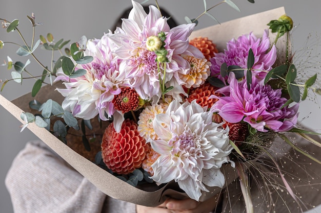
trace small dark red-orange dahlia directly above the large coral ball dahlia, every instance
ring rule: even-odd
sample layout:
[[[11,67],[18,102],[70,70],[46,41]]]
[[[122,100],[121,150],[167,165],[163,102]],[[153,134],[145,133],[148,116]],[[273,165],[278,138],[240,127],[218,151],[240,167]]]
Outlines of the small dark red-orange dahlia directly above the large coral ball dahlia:
[[[138,107],[139,96],[134,89],[123,87],[121,93],[114,97],[112,103],[116,110],[126,113]]]

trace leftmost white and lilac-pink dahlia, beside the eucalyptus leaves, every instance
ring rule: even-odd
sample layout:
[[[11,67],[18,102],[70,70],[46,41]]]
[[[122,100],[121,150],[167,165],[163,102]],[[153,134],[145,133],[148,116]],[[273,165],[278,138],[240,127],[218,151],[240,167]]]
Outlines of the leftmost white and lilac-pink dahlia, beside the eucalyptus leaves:
[[[87,70],[84,76],[70,79],[61,71],[56,81],[65,82],[66,89],[57,89],[65,97],[64,109],[85,120],[97,114],[103,121],[114,116],[118,121],[115,128],[119,131],[124,121],[123,113],[115,110],[112,101],[121,93],[122,87],[130,86],[130,79],[119,69],[121,59],[112,53],[116,46],[109,39],[110,34],[87,42],[85,55],[92,56],[93,61],[79,67]]]

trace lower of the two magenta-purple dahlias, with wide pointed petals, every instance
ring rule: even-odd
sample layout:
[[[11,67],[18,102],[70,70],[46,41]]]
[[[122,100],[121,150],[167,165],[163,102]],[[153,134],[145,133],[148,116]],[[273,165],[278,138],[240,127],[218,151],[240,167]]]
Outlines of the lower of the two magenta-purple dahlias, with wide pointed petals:
[[[212,96],[218,101],[211,108],[225,121],[238,123],[243,120],[261,132],[267,132],[267,129],[283,132],[296,125],[299,105],[282,108],[287,99],[282,97],[281,89],[272,89],[253,78],[248,90],[246,80],[237,82],[234,73],[229,75],[228,82],[229,92],[225,97]]]

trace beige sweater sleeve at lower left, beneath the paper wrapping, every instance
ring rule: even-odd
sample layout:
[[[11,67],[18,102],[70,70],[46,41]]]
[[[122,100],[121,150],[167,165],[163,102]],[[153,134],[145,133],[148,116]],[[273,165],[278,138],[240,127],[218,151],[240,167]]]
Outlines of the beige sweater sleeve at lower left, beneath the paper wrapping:
[[[42,141],[15,157],[6,186],[15,213],[135,213],[135,204],[106,196]]]

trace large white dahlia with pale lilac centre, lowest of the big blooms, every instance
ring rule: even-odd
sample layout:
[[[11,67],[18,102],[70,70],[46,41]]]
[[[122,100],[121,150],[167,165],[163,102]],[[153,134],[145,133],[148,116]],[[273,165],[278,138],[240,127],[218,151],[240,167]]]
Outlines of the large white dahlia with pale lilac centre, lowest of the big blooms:
[[[193,101],[174,100],[166,113],[157,114],[154,131],[160,139],[151,140],[160,157],[152,164],[159,183],[175,180],[186,194],[197,200],[206,186],[223,187],[220,167],[229,162],[232,151],[228,130],[212,122],[212,113]]]

